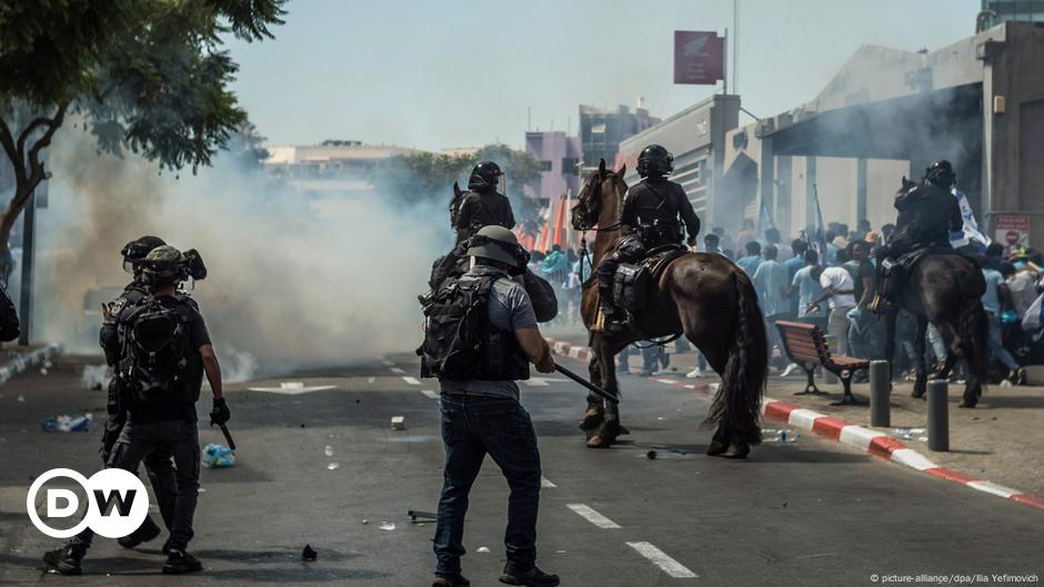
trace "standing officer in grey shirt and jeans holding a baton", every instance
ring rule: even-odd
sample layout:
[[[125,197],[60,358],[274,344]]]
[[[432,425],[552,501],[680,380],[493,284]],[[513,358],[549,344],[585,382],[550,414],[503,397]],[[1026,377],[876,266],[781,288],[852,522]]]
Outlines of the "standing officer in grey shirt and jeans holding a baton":
[[[436,558],[433,587],[469,585],[461,575],[464,554],[464,515],[468,494],[489,454],[500,466],[511,488],[508,528],[504,534],[508,564],[500,580],[509,585],[552,587],[555,575],[536,567],[536,513],[540,499],[540,452],[529,413],[519,403],[514,379],[529,378],[529,364],[541,373],[554,371],[551,351],[536,326],[525,290],[511,275],[525,269],[528,254],[515,235],[504,226],[478,231],[468,256],[473,267],[459,280],[451,279],[425,308],[428,332],[421,347],[422,375],[436,376],[442,389],[442,438],[445,469],[439,520],[435,528]],[[449,324],[461,316],[464,295],[481,296],[485,312],[469,321],[466,340],[478,345],[463,350],[448,346],[448,337],[433,328],[456,328]],[[438,314],[438,315],[433,315]],[[458,322],[461,318],[455,318]],[[466,318],[465,318],[466,320]],[[481,356],[463,362],[446,361],[459,351],[482,348]],[[451,363],[454,363],[451,365]]]

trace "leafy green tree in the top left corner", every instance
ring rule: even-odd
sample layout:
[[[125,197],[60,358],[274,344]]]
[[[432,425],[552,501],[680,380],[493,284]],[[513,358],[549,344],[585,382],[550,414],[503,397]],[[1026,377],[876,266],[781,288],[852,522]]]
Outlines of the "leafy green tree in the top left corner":
[[[0,252],[67,118],[99,150],[161,169],[209,165],[247,121],[229,90],[230,34],[271,38],[285,0],[6,0],[0,2],[0,146],[13,195]]]

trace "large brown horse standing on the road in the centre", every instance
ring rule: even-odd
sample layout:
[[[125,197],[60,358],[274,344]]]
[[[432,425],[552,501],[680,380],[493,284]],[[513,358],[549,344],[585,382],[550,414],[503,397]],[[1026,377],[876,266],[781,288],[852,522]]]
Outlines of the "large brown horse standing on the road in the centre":
[[[572,210],[573,227],[598,231],[595,267],[613,251],[620,235],[628,190],[623,175],[624,169],[606,170],[603,160],[585,180]],[[593,280],[584,284],[581,313],[590,332],[593,383],[619,394],[614,357],[620,351],[639,340],[683,333],[722,377],[705,421],[717,426],[707,454],[743,458],[750,445],[761,442],[757,421],[769,368],[765,321],[751,280],[731,261],[707,253],[687,253],[672,261],[650,287],[645,310],[632,316],[629,332],[592,331],[599,317]],[[606,406],[595,395],[588,396],[583,426],[592,448],[609,447],[625,432],[619,405]]]

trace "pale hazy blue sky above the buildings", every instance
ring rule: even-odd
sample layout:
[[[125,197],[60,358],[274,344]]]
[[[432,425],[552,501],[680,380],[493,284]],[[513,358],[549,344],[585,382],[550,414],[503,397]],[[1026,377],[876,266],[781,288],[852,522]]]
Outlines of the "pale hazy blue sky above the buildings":
[[[814,98],[862,44],[934,50],[968,37],[980,7],[739,3],[739,93],[759,117]],[[534,129],[575,132],[580,103],[639,97],[665,118],[721,91],[672,83],[673,31],[734,33],[733,0],[292,0],[288,10],[274,40],[230,45],[235,91],[270,144],[521,146],[528,107]]]

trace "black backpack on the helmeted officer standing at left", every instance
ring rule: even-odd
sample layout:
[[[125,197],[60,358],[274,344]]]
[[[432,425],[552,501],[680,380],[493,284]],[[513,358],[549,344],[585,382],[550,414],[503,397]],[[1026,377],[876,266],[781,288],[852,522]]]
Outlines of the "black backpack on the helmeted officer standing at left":
[[[192,307],[181,297],[147,297],[124,318],[121,371],[139,404],[185,404],[199,398],[191,384]]]

